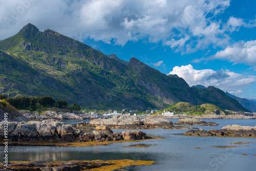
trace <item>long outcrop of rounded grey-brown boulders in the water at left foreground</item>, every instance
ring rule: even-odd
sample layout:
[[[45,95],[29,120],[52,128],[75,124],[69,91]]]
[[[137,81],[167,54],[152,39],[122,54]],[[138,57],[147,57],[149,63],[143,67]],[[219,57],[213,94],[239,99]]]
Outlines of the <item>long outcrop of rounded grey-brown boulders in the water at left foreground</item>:
[[[77,129],[57,120],[10,122],[9,141],[87,142],[150,139],[140,131],[113,133],[107,126],[98,126],[92,133]],[[0,141],[4,138],[4,122],[0,122]]]

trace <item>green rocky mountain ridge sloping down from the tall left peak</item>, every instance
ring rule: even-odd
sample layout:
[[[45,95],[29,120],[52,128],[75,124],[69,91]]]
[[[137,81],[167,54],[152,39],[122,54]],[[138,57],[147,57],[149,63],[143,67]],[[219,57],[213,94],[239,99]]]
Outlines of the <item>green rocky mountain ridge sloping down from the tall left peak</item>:
[[[220,89],[190,88],[177,75],[165,75],[134,57],[127,62],[107,56],[32,24],[0,41],[0,93],[50,95],[93,109],[154,109],[183,101],[248,111]]]

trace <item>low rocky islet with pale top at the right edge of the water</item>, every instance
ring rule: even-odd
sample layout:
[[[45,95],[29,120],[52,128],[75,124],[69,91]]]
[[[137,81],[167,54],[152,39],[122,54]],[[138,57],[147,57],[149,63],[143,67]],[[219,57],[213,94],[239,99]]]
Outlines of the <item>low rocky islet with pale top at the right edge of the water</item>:
[[[228,136],[228,137],[253,137],[256,138],[256,126],[227,125],[220,130],[189,130],[186,136]]]

